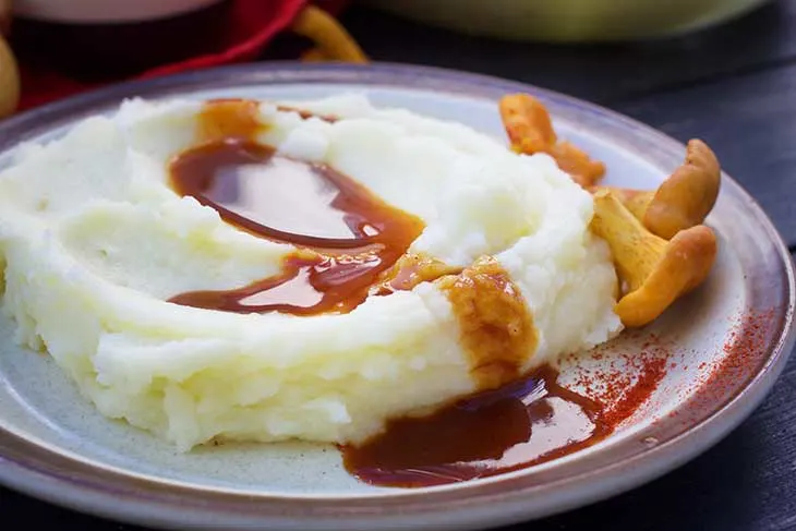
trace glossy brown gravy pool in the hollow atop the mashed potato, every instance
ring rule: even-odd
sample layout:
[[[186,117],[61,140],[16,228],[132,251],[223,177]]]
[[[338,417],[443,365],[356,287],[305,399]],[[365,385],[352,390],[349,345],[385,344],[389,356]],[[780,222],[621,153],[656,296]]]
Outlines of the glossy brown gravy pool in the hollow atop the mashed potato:
[[[171,302],[240,313],[350,311],[424,225],[326,165],[256,143],[263,129],[256,112],[254,101],[207,104],[202,142],[171,161],[171,185],[240,229],[301,250],[276,276],[234,290],[181,293]]]

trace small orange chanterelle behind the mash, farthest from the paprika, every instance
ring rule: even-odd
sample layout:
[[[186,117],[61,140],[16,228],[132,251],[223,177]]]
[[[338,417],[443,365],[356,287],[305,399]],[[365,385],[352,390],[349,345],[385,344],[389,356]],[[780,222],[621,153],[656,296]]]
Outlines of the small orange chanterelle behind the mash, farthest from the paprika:
[[[592,160],[569,142],[558,141],[547,109],[530,94],[504,96],[498,107],[515,152],[546,153],[583,188],[593,186],[605,174],[605,165]]]

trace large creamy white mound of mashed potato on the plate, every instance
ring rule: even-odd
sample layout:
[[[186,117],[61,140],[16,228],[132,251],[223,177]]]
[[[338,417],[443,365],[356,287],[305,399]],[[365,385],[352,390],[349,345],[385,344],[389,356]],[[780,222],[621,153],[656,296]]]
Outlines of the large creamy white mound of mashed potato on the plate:
[[[539,341],[524,369],[620,329],[592,201],[547,156],[520,156],[461,124],[359,95],[304,102],[329,123],[263,102],[260,141],[324,161],[424,220],[410,252],[467,266],[494,255]],[[294,248],[257,239],[168,186],[202,102],[125,101],[0,173],[2,307],[99,411],[182,450],[219,439],[357,443],[394,415],[477,389],[436,285],[347,314],[234,314],[166,302],[280,270]],[[2,288],[2,285],[0,285]]]

